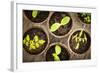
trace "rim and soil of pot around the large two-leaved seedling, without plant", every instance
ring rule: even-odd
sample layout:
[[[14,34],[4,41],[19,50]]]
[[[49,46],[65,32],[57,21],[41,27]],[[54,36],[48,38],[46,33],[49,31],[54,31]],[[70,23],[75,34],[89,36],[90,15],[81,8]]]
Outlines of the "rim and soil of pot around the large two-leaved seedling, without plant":
[[[70,21],[68,23],[68,25],[64,25],[61,26],[58,30],[56,30],[55,32],[51,32],[50,31],[50,27],[53,23],[60,23],[61,19],[65,16],[69,16],[70,17]],[[67,13],[67,12],[54,12],[51,17],[49,18],[49,22],[48,22],[48,28],[50,33],[58,38],[63,38],[65,37],[68,32],[71,30],[72,28],[72,18],[71,16]]]

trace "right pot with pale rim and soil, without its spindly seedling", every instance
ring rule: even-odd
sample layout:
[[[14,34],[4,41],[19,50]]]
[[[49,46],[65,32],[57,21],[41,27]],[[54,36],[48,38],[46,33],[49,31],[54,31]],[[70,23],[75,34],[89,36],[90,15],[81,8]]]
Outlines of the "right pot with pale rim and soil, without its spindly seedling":
[[[78,34],[78,36],[79,36],[79,33],[80,33],[81,30],[83,30],[83,34],[82,34],[81,38],[84,38],[84,34],[86,34],[87,43],[81,42],[81,43],[80,43],[80,47],[77,48],[77,49],[75,49],[77,43],[76,43],[76,41],[75,41],[74,39],[72,39],[72,38],[73,38],[73,36],[75,36],[76,34]],[[68,46],[69,46],[69,48],[70,48],[73,52],[75,52],[75,53],[77,53],[77,54],[83,54],[83,53],[85,53],[85,52],[90,48],[90,45],[91,45],[91,37],[90,37],[90,34],[89,34],[86,30],[84,30],[84,29],[78,29],[78,30],[74,31],[74,32],[69,36],[69,39],[68,39]]]

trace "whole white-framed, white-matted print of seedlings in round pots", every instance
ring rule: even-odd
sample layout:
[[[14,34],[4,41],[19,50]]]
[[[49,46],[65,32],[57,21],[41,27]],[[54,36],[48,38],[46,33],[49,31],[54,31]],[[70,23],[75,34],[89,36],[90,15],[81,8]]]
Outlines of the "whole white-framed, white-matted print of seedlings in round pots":
[[[12,2],[11,69],[96,65],[96,8]]]

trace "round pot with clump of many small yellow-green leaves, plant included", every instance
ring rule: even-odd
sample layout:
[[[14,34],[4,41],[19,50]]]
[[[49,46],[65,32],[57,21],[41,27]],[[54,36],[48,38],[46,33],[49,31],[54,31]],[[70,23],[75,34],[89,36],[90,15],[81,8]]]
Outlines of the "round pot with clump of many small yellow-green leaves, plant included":
[[[41,28],[31,28],[23,35],[23,48],[29,54],[40,54],[48,45],[48,35]]]

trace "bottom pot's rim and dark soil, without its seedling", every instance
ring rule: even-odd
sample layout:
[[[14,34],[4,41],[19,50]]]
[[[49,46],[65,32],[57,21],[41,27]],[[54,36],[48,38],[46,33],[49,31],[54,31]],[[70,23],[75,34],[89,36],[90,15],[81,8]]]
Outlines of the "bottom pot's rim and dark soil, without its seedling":
[[[59,45],[61,47],[61,53],[58,55],[60,58],[60,61],[69,60],[70,54],[67,51],[67,48],[64,44],[61,43],[53,43],[49,46],[49,48],[46,51],[46,61],[54,61],[54,57],[52,54],[55,52],[55,45]]]

